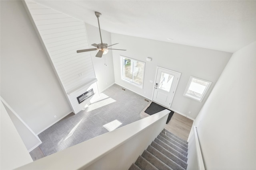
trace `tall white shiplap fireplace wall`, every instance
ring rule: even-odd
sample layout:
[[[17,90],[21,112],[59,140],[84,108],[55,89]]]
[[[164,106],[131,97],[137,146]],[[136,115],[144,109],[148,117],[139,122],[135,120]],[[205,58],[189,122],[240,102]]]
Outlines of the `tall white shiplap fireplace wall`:
[[[33,1],[25,1],[40,37],[46,47],[74,113],[78,113],[88,101],[78,104],[78,93],[84,93],[92,85],[98,96],[98,86],[90,53],[76,53],[90,48],[83,21],[77,20]],[[80,92],[75,92],[79,89]]]

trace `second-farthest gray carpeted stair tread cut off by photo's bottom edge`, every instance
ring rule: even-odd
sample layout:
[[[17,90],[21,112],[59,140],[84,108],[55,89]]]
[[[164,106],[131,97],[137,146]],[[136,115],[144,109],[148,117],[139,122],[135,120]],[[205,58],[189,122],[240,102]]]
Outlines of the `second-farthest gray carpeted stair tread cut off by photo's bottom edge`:
[[[164,162],[159,160],[156,156],[154,156],[152,153],[148,152],[148,150],[144,150],[144,152],[141,155],[143,158],[148,160],[152,165],[154,165],[156,168],[160,170],[172,170],[169,166],[167,166]]]

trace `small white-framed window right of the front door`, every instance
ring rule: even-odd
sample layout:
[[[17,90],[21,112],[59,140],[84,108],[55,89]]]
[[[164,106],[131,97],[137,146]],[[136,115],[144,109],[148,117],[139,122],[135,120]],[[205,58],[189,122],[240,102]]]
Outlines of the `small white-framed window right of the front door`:
[[[184,96],[202,102],[212,82],[190,76]]]

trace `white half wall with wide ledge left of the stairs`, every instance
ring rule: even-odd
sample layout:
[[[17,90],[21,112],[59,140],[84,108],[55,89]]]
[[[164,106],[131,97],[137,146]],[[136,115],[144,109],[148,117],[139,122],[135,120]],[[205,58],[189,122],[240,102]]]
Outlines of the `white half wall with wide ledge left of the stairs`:
[[[164,129],[169,113],[165,109],[17,169],[128,169]]]

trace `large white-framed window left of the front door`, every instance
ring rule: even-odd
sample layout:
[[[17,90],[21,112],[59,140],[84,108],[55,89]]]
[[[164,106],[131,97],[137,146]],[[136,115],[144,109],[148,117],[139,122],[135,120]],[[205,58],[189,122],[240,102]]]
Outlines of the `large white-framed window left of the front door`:
[[[144,81],[145,63],[142,61],[130,59],[128,57],[120,57],[122,79],[142,88]]]

